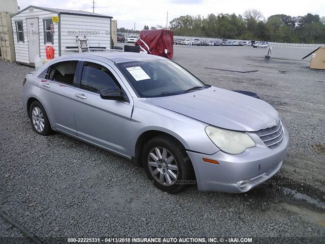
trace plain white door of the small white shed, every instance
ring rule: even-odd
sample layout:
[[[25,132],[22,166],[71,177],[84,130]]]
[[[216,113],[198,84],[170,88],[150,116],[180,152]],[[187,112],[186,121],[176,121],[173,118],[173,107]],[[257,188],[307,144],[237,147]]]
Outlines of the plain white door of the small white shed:
[[[35,63],[35,57],[40,55],[39,19],[26,19],[29,63]]]

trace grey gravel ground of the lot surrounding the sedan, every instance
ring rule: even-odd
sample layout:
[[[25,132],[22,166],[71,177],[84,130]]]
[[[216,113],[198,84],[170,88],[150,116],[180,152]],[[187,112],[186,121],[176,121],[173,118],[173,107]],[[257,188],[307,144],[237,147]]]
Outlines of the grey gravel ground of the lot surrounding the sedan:
[[[174,46],[204,82],[255,92],[290,135],[281,171],[247,194],[157,190],[142,168],[61,134],[31,130],[21,104],[30,67],[0,61],[0,210],[37,236],[325,236],[325,72],[309,49]],[[205,69],[213,68],[213,69]],[[233,70],[232,71],[221,71]],[[240,73],[238,71],[258,70]],[[296,190],[309,201],[296,199]],[[305,195],[306,194],[306,195]],[[307,199],[308,200],[308,199]],[[0,236],[21,236],[0,218]],[[325,241],[317,239],[317,241]]]

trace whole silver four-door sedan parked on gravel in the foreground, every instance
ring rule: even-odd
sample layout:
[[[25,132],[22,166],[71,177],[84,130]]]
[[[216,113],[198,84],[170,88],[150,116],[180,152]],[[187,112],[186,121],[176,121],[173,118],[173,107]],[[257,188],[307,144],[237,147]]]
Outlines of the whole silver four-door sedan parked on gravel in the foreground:
[[[160,190],[241,193],[281,168],[288,133],[268,103],[139,53],[54,58],[23,82],[32,129],[66,134],[143,166]]]

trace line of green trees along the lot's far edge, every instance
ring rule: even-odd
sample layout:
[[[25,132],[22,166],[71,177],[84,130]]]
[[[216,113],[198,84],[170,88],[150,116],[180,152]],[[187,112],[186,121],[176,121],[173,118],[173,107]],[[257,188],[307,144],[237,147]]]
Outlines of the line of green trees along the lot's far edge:
[[[153,27],[155,28],[155,27]],[[287,43],[325,43],[325,17],[315,14],[291,17],[272,15],[265,19],[258,10],[243,15],[185,15],[170,21],[175,36],[259,40]],[[145,26],[145,29],[149,29]]]

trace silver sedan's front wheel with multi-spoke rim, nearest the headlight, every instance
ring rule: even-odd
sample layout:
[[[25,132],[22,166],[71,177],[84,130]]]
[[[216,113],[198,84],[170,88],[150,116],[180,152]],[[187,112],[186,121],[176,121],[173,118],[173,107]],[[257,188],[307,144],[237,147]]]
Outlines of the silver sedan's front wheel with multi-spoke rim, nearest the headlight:
[[[143,167],[155,187],[164,192],[178,193],[195,183],[184,147],[169,136],[157,136],[148,141],[143,150]]]

